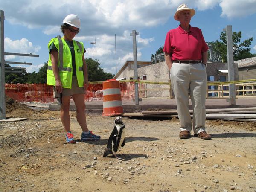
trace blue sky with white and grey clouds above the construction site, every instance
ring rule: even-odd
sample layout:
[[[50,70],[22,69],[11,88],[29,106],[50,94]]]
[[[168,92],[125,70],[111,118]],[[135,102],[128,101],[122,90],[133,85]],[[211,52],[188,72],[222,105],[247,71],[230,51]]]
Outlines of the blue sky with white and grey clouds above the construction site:
[[[178,26],[174,20],[181,3],[196,10],[191,25],[199,27],[205,41],[216,41],[223,28],[232,25],[242,32],[242,41],[253,37],[251,52],[256,53],[256,0],[0,0],[5,14],[5,52],[32,53],[39,58],[7,56],[6,61],[32,62],[28,72],[38,71],[48,60],[47,44],[59,30],[64,17],[76,14],[86,58],[92,58],[90,39],[96,38],[94,58],[109,73],[116,73],[127,60],[133,60],[130,33],[136,29],[138,60],[150,61],[151,54],[164,44],[166,33]]]

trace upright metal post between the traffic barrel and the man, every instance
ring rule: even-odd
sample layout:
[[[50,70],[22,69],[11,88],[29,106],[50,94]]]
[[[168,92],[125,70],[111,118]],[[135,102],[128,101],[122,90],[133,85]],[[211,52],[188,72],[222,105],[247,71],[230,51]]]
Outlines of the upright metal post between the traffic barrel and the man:
[[[134,49],[134,80],[138,81],[136,35],[139,35],[139,33],[137,33],[136,30],[132,30],[132,33],[130,33],[130,36],[132,36],[133,49]],[[134,89],[135,89],[135,105],[139,105],[139,86],[137,83],[134,83]]]

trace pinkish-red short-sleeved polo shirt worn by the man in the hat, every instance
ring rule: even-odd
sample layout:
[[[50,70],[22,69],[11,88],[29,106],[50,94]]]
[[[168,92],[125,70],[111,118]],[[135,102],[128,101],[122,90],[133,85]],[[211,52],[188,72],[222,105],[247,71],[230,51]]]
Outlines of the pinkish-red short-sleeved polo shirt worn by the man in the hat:
[[[208,49],[201,29],[190,26],[186,32],[179,25],[167,33],[163,52],[171,54],[172,60],[201,60]]]

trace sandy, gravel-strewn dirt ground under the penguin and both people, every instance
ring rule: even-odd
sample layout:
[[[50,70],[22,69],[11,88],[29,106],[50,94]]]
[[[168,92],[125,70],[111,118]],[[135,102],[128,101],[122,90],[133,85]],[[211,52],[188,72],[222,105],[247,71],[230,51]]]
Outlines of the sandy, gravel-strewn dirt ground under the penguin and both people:
[[[10,104],[9,104],[10,103]],[[33,192],[256,192],[256,124],[207,121],[212,140],[178,138],[177,119],[123,118],[127,136],[118,160],[102,157],[114,117],[87,113],[99,141],[66,144],[59,111],[32,110],[9,101],[0,123],[0,191]]]

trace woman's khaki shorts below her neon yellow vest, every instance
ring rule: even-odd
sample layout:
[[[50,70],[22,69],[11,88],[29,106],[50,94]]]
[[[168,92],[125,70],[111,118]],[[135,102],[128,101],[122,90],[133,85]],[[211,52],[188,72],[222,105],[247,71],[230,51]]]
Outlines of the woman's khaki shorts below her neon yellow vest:
[[[84,93],[85,93],[84,87],[78,86],[76,76],[72,76],[71,89],[62,88],[62,93],[58,93],[57,90],[55,89],[55,86],[53,86],[53,97],[57,99],[59,104],[62,104],[61,98],[63,96],[72,96],[72,95],[84,94]]]

